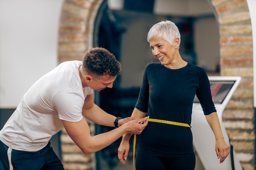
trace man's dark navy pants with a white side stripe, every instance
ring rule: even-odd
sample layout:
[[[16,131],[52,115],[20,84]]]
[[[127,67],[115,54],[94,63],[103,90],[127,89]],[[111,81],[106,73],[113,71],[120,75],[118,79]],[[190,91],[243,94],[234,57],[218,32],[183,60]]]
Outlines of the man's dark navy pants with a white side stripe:
[[[64,170],[50,142],[37,152],[14,150],[0,141],[0,162],[4,170]]]

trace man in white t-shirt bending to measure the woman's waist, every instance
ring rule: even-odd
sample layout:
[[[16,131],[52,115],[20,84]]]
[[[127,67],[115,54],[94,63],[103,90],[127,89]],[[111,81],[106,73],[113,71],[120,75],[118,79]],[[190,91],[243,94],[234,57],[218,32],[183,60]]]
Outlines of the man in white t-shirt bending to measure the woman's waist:
[[[38,79],[0,131],[4,170],[63,170],[49,143],[63,127],[84,154],[105,148],[126,132],[140,134],[146,117],[120,119],[94,104],[93,90],[112,88],[120,74],[115,56],[97,47],[88,50],[83,61],[63,62]],[[91,136],[84,117],[116,128]]]

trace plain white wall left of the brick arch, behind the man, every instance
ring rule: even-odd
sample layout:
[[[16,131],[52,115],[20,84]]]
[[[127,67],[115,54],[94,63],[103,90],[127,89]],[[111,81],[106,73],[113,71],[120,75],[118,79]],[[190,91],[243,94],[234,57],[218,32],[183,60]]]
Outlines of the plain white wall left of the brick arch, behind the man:
[[[0,0],[0,108],[57,65],[63,0]]]

